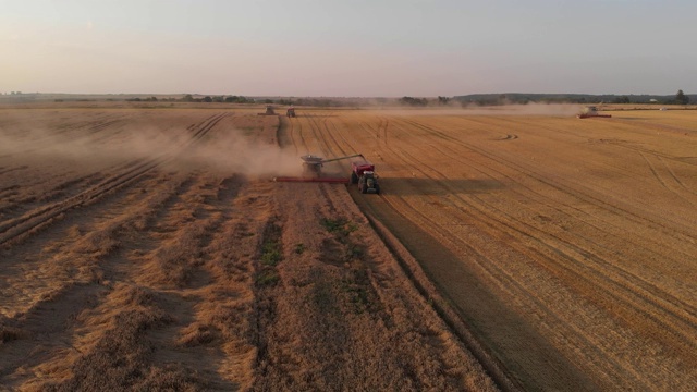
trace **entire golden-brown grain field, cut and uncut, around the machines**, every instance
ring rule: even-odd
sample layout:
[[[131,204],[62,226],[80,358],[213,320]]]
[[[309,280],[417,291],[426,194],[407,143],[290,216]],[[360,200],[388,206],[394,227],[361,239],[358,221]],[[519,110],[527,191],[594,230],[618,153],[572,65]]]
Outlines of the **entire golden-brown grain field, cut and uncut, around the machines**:
[[[256,111],[0,110],[0,384],[697,387],[694,111]]]

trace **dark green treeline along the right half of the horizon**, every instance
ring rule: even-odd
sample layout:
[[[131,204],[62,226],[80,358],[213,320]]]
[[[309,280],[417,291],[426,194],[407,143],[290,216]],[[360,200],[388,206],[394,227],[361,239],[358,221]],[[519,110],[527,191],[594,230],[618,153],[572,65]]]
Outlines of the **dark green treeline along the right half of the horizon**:
[[[470,94],[453,97],[463,105],[509,105],[509,103],[660,103],[687,105],[697,102],[697,95],[686,95],[682,90],[676,95],[590,95],[590,94]]]

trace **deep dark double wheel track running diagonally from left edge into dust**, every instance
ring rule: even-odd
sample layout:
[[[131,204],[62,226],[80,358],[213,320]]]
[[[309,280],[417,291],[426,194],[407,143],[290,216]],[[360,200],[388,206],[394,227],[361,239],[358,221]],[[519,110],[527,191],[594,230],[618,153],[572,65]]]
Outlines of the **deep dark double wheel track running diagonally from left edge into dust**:
[[[227,115],[228,113],[213,114],[201,123],[189,125],[188,130],[192,133],[192,136],[180,146],[179,151],[182,151],[200,140]],[[162,163],[171,160],[176,152],[178,151],[164,151],[151,159],[137,159],[133,161],[134,163],[131,168],[105,179],[99,184],[96,184],[77,195],[49,206],[41,206],[10,221],[1,222],[0,246],[7,245],[24,234],[28,234],[34,230],[49,224],[52,219],[63,212],[94,203],[111,192],[115,192],[119,188],[134,183],[155,168],[158,168]]]

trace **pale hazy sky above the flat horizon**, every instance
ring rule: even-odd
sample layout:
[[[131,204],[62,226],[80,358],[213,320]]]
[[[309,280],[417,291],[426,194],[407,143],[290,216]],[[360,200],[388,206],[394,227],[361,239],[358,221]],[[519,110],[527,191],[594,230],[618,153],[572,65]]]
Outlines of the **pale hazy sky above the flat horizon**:
[[[0,0],[0,91],[697,94],[696,0]]]

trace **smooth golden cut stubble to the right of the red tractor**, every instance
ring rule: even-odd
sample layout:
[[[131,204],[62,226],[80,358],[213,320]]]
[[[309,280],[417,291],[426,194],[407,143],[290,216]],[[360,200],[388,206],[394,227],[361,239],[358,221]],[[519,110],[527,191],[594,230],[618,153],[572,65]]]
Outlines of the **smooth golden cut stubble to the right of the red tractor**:
[[[374,160],[382,194],[354,200],[523,388],[697,389],[697,112],[537,111],[310,114],[291,134]]]

